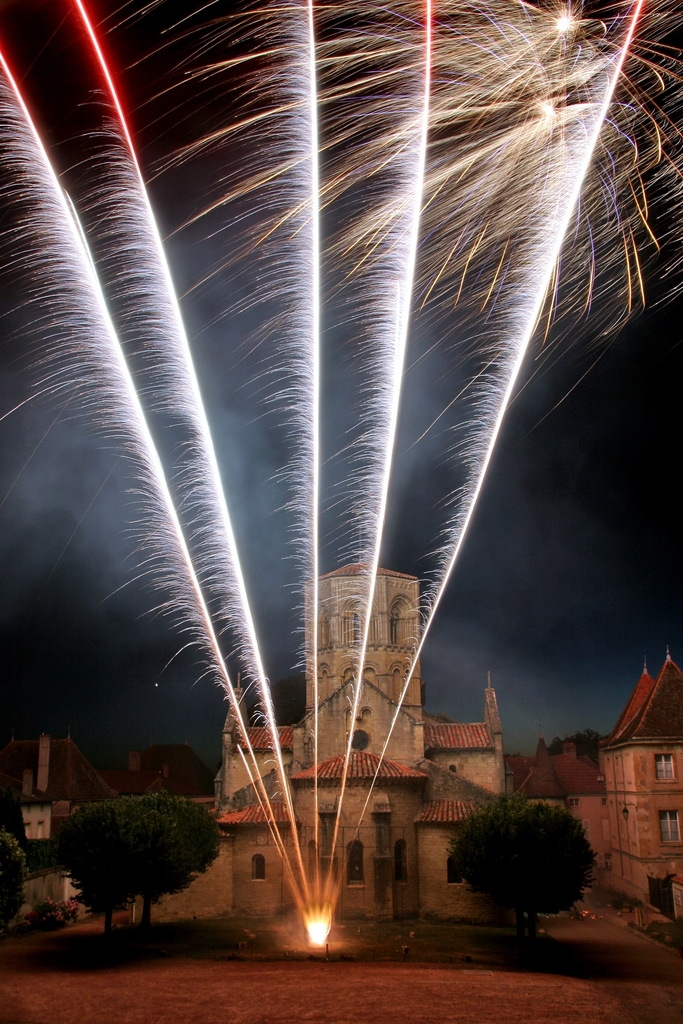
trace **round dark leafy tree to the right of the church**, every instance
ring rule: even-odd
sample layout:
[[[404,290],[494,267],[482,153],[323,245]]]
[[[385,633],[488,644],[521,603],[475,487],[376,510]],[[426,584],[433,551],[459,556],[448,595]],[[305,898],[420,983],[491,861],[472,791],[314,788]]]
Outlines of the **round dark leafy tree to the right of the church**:
[[[499,797],[457,828],[455,869],[476,892],[515,910],[517,935],[536,936],[537,913],[568,909],[590,885],[595,854],[563,807]]]

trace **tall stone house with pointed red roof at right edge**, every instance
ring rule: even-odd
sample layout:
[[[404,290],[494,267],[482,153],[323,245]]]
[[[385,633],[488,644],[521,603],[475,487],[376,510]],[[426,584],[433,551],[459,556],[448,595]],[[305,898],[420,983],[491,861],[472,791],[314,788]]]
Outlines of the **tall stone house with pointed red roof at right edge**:
[[[600,744],[611,869],[605,883],[674,914],[672,880],[683,874],[683,674],[667,657],[643,672]]]

